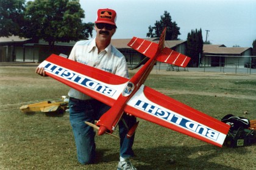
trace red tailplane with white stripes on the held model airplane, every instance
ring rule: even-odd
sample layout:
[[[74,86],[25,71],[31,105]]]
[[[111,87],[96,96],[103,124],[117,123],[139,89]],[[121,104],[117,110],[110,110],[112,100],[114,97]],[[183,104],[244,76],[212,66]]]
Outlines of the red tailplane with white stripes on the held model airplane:
[[[155,56],[158,46],[158,44],[155,42],[147,41],[137,37],[133,37],[127,45],[142,53],[143,55],[148,56],[149,58]],[[190,57],[165,47],[158,54],[157,61],[173,64],[175,66],[187,67],[187,64],[190,61]]]

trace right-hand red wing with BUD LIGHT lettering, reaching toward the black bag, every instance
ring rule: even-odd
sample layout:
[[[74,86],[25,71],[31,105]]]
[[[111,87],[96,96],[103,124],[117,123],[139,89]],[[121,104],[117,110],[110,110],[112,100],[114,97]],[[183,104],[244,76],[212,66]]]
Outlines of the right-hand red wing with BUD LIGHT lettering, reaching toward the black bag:
[[[221,147],[230,126],[147,86],[129,100],[125,112]]]

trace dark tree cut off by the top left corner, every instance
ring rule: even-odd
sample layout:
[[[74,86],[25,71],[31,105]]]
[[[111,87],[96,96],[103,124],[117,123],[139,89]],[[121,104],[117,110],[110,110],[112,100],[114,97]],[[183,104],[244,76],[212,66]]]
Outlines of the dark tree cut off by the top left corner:
[[[0,36],[19,35],[25,0],[0,0]]]

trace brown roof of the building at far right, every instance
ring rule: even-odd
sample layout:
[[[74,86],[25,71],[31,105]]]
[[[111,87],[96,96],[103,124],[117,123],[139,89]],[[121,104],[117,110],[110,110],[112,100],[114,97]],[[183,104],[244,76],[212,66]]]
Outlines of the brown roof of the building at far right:
[[[251,47],[226,47],[222,45],[204,44],[203,53],[241,55]]]

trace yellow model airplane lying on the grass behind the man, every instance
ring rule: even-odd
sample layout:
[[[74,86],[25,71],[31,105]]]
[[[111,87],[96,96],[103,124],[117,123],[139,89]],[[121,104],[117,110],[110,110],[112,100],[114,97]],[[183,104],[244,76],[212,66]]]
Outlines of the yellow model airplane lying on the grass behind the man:
[[[63,98],[63,97],[62,97]],[[63,98],[64,101],[42,101],[40,103],[27,104],[20,107],[22,112],[44,112],[44,113],[59,113],[62,114],[68,108],[68,101]]]

